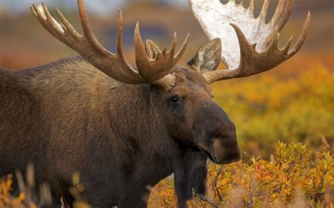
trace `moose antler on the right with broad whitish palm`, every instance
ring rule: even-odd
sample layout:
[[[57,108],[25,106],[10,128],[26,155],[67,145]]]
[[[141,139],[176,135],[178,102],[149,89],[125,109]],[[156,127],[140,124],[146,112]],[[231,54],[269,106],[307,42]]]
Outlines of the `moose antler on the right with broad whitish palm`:
[[[254,18],[254,0],[250,1],[249,8],[244,8],[243,1],[236,4],[234,0],[227,4],[219,0],[189,0],[189,4],[208,37],[219,37],[223,42],[221,59],[228,70],[205,72],[203,75],[209,84],[259,74],[283,63],[302,47],[311,23],[311,14],[308,13],[302,33],[289,51],[292,37],[282,49],[277,43],[280,30],[290,18],[293,0],[279,0],[268,24],[269,0],[264,1],[258,18]]]

